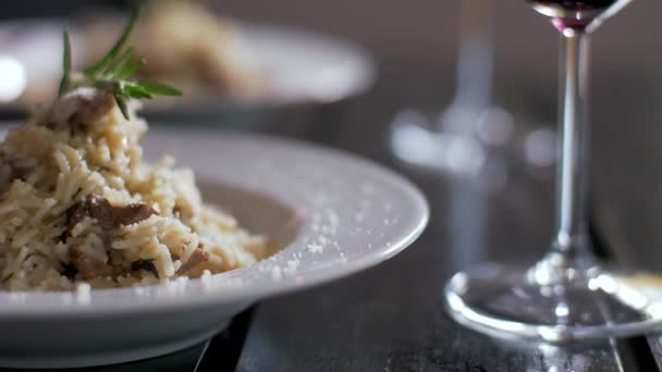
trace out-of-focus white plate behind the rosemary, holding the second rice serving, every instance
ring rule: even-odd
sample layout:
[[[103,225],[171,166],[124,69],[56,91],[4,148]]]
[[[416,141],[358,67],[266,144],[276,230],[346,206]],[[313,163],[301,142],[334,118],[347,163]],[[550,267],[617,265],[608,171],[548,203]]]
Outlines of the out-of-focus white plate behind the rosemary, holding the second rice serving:
[[[370,55],[350,41],[271,24],[229,23],[236,40],[226,54],[231,54],[233,63],[259,74],[259,91],[229,95],[196,88],[191,99],[148,103],[145,108],[148,116],[189,120],[214,116],[218,122],[219,114],[237,119],[237,114],[262,110],[342,101],[364,92],[373,83],[376,67]],[[0,111],[3,116],[23,115],[34,104],[51,99],[61,74],[64,27],[72,34],[74,64],[85,64],[90,59],[89,48],[85,48],[89,41],[83,32],[87,28],[79,24],[72,26],[59,18],[0,24]]]

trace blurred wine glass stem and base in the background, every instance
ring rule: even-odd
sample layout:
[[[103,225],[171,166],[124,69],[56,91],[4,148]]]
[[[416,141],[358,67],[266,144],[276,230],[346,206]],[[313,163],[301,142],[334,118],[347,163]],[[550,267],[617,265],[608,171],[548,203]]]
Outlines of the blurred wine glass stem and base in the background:
[[[491,0],[459,2],[459,40],[455,97],[436,120],[415,110],[393,120],[390,146],[412,165],[451,175],[475,175],[486,165],[490,146],[513,133],[512,115],[491,104]]]

